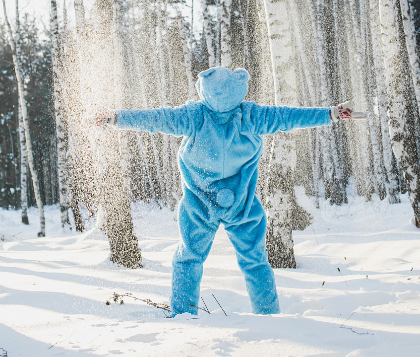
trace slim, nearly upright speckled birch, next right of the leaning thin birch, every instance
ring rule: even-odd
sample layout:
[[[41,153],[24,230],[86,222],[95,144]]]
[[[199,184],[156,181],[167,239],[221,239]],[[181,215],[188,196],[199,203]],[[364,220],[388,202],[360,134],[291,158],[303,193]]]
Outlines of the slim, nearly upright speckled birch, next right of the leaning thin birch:
[[[59,173],[59,193],[60,193],[60,213],[61,227],[64,228],[69,223],[68,220],[68,202],[69,187],[66,172],[66,123],[64,120],[63,104],[61,100],[61,69],[59,68],[60,57],[60,39],[59,23],[57,18],[57,2],[51,0],[51,45],[52,45],[52,64],[54,79],[54,109],[56,116],[56,135],[57,135],[57,168]]]

